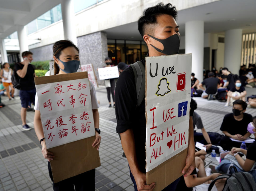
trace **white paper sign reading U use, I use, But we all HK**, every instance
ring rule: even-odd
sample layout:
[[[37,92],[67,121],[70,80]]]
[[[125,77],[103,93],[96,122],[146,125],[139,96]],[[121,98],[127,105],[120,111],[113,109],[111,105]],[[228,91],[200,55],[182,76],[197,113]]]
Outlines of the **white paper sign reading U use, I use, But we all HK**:
[[[191,54],[146,57],[146,172],[187,148]]]

